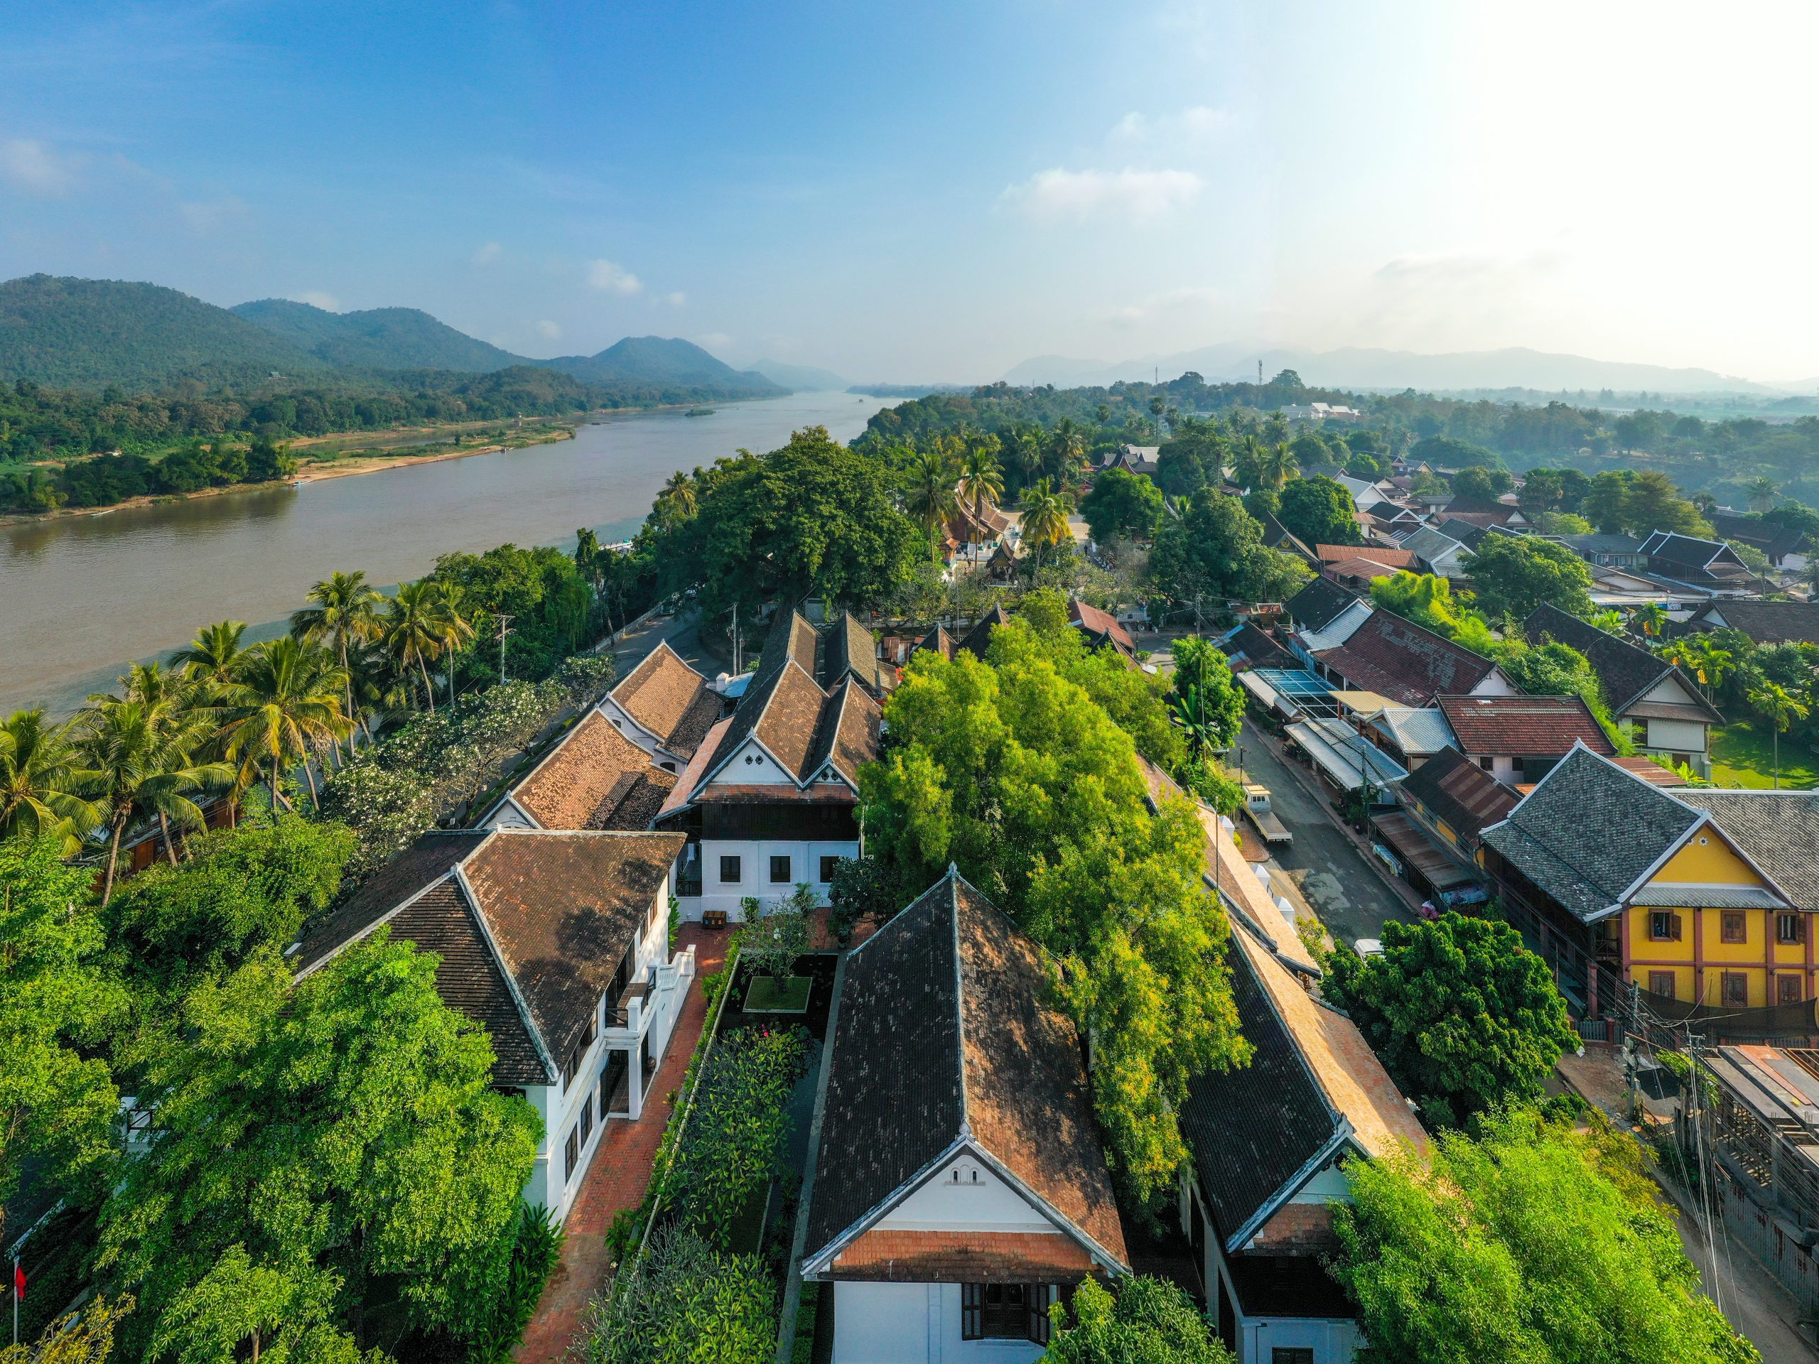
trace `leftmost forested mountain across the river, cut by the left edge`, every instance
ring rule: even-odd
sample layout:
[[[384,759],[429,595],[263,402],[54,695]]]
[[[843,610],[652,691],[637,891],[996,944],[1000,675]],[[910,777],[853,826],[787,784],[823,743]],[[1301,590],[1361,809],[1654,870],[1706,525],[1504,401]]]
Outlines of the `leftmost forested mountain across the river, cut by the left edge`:
[[[126,280],[27,275],[0,284],[0,380],[47,387],[255,384],[329,366],[226,307]]]

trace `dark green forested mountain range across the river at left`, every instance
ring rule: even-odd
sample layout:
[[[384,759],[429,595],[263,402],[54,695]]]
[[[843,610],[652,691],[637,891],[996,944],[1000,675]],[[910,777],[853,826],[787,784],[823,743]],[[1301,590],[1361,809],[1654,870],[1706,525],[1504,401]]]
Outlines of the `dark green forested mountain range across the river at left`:
[[[387,371],[557,369],[640,400],[764,398],[786,387],[675,336],[626,336],[598,355],[533,360],[415,307],[329,313],[289,298],[215,307],[127,280],[29,275],[0,284],[0,380],[126,391],[178,384],[386,384]],[[400,382],[393,375],[389,382]]]

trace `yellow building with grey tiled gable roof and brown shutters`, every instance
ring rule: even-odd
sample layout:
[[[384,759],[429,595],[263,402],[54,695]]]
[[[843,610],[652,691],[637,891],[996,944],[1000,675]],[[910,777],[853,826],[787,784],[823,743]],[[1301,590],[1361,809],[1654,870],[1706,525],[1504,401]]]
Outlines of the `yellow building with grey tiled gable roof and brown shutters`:
[[[1666,791],[1577,747],[1484,846],[1588,1017],[1630,986],[1713,1009],[1819,997],[1819,793]]]

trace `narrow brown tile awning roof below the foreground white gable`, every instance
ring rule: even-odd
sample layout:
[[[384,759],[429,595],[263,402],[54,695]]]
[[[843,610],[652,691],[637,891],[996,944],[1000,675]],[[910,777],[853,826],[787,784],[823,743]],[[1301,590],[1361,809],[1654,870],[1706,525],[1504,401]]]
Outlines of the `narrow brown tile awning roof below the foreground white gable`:
[[[1093,1273],[1093,1257],[1059,1231],[871,1229],[833,1260],[835,1279],[888,1284],[1070,1284]]]

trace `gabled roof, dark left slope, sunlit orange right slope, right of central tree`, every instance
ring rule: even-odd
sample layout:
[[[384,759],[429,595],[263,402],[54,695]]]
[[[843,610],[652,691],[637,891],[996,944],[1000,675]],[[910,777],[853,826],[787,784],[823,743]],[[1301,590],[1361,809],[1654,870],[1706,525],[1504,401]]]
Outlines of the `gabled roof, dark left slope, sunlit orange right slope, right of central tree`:
[[[1317,1002],[1242,924],[1231,929],[1231,995],[1251,1062],[1197,1075],[1181,1129],[1228,1251],[1348,1149],[1426,1149],[1377,1053],[1357,1026]]]

